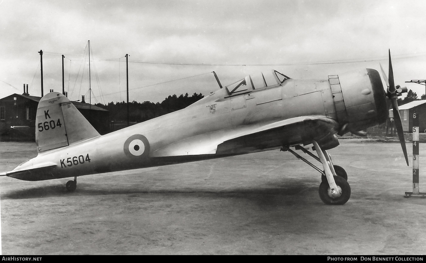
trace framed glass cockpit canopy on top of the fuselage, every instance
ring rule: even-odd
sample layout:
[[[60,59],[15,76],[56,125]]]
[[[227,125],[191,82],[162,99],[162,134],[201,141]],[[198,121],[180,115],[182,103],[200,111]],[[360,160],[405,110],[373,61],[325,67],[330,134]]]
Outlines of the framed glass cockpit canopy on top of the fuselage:
[[[231,96],[262,88],[276,87],[282,85],[286,79],[290,78],[284,74],[279,73],[278,71],[272,70],[259,72],[257,74],[250,74],[244,79],[240,79],[237,82],[227,85],[225,88],[228,94]]]

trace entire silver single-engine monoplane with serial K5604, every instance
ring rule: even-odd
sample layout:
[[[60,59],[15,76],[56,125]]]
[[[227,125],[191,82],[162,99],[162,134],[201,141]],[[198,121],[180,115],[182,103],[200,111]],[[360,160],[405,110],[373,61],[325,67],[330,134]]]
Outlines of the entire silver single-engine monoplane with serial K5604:
[[[383,69],[382,69],[383,71]],[[216,76],[216,74],[215,74]],[[1,173],[26,181],[154,167],[281,149],[293,153],[322,175],[320,198],[345,204],[351,188],[342,167],[327,150],[339,145],[336,135],[382,124],[391,100],[397,133],[408,165],[389,51],[386,92],[378,71],[364,68],[322,80],[296,80],[267,71],[252,74],[182,109],[101,136],[60,93],[43,96],[37,108],[37,157]],[[313,144],[312,150],[306,148]],[[305,146],[305,147],[303,147]],[[322,163],[316,167],[294,150]]]

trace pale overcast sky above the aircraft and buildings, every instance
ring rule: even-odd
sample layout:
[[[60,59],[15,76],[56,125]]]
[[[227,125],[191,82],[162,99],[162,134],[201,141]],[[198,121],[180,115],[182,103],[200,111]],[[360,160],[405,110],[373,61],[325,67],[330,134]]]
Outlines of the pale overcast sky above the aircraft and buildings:
[[[41,95],[43,50],[44,94],[62,91],[63,54],[65,90],[89,102],[88,40],[92,104],[126,100],[125,54],[130,101],[161,102],[218,89],[212,71],[222,85],[269,69],[294,79],[379,62],[387,71],[389,48],[395,84],[420,97],[424,85],[404,82],[426,79],[425,28],[424,0],[0,0],[0,98],[24,83]]]

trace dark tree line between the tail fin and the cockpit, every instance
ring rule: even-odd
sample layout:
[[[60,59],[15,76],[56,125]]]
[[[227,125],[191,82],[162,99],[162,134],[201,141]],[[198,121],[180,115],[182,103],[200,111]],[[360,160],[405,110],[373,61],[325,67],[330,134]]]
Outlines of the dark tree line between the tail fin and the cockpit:
[[[162,102],[129,102],[129,122],[144,122],[155,117],[181,110],[194,102],[202,99],[204,95],[194,93],[189,96],[176,94],[169,95]],[[107,105],[98,103],[98,107],[109,110],[110,120],[114,122],[127,122],[127,102],[109,102]]]

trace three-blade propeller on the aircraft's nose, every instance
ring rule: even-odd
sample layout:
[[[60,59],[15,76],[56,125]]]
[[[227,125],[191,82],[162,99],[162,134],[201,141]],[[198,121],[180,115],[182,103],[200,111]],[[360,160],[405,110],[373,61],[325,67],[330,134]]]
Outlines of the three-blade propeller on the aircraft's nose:
[[[380,65],[380,68],[382,69],[383,78],[385,79],[386,85],[388,86],[386,95],[391,100],[391,103],[392,103],[392,109],[394,112],[394,124],[395,124],[395,127],[397,128],[397,133],[401,143],[402,151],[404,153],[405,161],[407,162],[407,166],[408,166],[409,164],[408,164],[407,148],[405,145],[401,116],[399,114],[399,109],[398,109],[398,103],[397,103],[398,94],[397,94],[397,89],[395,88],[395,83],[394,83],[394,71],[392,69],[390,49],[389,49],[389,79],[386,76],[385,71],[382,68],[382,65]]]

